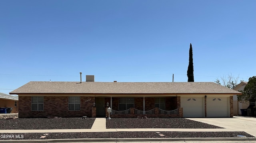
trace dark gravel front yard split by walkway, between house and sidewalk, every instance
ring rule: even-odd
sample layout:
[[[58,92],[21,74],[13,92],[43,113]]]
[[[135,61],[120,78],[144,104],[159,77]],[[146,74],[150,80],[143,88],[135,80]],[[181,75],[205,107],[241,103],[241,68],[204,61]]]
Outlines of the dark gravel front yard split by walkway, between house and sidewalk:
[[[90,129],[95,118],[16,118],[0,119],[0,129]],[[112,118],[107,129],[132,128],[222,128],[184,118]]]

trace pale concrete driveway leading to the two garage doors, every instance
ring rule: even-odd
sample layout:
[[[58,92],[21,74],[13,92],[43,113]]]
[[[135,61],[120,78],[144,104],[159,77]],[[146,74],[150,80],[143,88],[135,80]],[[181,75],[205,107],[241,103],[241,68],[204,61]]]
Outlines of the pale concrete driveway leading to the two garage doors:
[[[194,121],[208,123],[234,131],[244,131],[256,137],[256,118],[234,116],[232,118],[186,118]]]

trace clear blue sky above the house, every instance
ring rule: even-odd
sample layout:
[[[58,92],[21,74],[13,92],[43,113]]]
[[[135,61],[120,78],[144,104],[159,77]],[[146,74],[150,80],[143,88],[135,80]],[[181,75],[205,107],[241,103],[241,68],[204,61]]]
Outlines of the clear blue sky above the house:
[[[0,92],[29,81],[256,75],[255,0],[2,0]]]

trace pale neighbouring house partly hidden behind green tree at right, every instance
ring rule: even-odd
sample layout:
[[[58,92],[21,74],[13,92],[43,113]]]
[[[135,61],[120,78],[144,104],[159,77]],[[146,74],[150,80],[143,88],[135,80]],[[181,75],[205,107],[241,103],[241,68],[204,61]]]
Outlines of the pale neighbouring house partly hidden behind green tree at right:
[[[247,82],[242,81],[236,87],[234,90],[240,91],[244,90],[245,85],[247,85]],[[237,101],[237,95],[233,96],[233,103],[234,103],[234,115],[241,115],[241,110],[240,109],[246,109],[249,106],[249,101],[246,101],[245,103],[241,103]]]

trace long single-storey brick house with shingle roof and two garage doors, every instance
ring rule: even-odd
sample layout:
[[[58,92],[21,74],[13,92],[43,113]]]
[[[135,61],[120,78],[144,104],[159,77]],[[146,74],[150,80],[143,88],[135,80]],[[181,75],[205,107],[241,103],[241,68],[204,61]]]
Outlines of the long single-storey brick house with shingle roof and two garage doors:
[[[90,79],[89,79],[90,78]],[[31,81],[19,95],[19,117],[233,117],[233,95],[214,82]],[[94,107],[95,106],[95,107]]]

